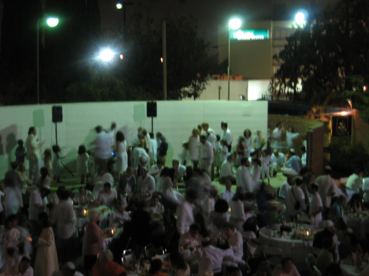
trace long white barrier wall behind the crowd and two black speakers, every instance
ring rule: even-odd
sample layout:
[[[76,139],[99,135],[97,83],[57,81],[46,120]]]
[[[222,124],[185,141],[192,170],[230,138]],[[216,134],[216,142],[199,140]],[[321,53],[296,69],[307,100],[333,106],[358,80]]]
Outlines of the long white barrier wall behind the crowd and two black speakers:
[[[130,144],[137,136],[137,128],[151,132],[151,118],[146,117],[146,102],[108,102],[62,104],[63,122],[57,124],[58,144],[65,146],[65,163],[75,170],[75,160],[80,144],[94,140],[94,127],[109,128],[112,121],[117,130],[124,133]],[[0,107],[0,179],[15,160],[17,140],[27,137],[28,128],[35,126],[37,137],[45,139],[41,151],[55,144],[55,124],[51,122],[52,105]],[[182,142],[192,129],[208,122],[217,134],[221,134],[220,122],[228,122],[233,134],[233,145],[246,128],[253,133],[260,129],[267,132],[268,102],[266,101],[160,101],[157,102],[157,118],[154,133],[160,131],[169,143],[170,160],[182,150]],[[170,163],[168,163],[169,165]],[[28,166],[27,166],[28,167]]]

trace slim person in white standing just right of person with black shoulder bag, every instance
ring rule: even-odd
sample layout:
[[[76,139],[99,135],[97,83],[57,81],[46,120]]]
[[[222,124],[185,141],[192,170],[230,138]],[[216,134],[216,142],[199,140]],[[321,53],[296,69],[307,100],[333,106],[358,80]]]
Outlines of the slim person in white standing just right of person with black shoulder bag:
[[[336,181],[332,178],[332,168],[330,166],[326,166],[324,168],[324,175],[319,176],[315,181],[319,188],[318,193],[321,196],[324,212],[323,217],[328,215],[329,209],[331,208],[332,197],[336,194]]]

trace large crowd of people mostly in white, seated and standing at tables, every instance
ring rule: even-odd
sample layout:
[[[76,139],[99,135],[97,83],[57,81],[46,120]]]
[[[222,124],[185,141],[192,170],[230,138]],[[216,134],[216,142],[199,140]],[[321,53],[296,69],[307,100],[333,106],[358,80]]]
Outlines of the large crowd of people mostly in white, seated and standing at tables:
[[[322,275],[342,275],[340,260],[366,249],[360,246],[366,232],[358,237],[346,222],[348,212],[363,212],[363,170],[350,176],[346,186],[336,185],[330,167],[315,179],[306,167],[306,141],[296,145],[299,134],[293,128],[285,131],[282,123],[267,138],[246,129],[233,148],[226,122],[219,134],[204,122],[172,160],[167,160],[168,142],[160,132],[138,128],[128,146],[115,123],[95,131],[91,144],[78,147],[77,174],[86,185],[74,191],[59,184],[51,192],[51,184],[61,182],[62,148],[54,145],[40,154],[44,141],[34,127],[25,146],[18,141],[0,191],[4,275],[78,275],[71,262],[82,256],[84,275],[122,276],[131,253],[141,266],[148,265],[148,275],[165,276],[156,255],[167,252],[175,276],[300,276],[289,257],[274,265],[264,260],[259,229],[298,223],[304,217],[305,223],[323,229],[314,238],[321,252],[317,258],[309,256],[312,268]],[[285,175],[286,182],[275,190],[270,179],[277,173]],[[216,178],[225,185],[221,193]],[[346,187],[355,191],[351,197]],[[112,210],[104,225],[99,207]],[[78,229],[81,212],[88,220]],[[108,249],[103,248],[112,235],[107,226],[122,229]]]

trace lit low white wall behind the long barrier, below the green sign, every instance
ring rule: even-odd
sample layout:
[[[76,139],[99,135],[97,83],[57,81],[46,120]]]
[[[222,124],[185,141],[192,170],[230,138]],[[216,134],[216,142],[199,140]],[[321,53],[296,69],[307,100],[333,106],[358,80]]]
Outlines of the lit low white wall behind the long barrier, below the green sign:
[[[231,80],[230,82],[230,99],[231,101],[240,101],[240,95],[245,96],[249,101],[259,100],[263,94],[268,94],[268,86],[270,80],[245,80],[236,81]],[[220,99],[228,99],[228,81],[226,80],[211,80],[206,86],[205,90],[201,93],[198,100],[219,100],[219,87]],[[192,100],[193,98],[186,98],[186,101]]]

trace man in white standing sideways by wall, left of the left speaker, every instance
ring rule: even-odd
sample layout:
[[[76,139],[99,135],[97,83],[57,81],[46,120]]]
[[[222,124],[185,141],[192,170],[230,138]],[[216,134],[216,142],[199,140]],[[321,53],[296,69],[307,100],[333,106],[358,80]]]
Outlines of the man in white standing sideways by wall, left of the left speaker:
[[[37,144],[36,135],[37,131],[35,127],[28,129],[28,137],[26,140],[26,156],[29,160],[29,174],[34,183],[38,183],[39,171],[41,168],[40,147],[43,145],[43,141]]]

